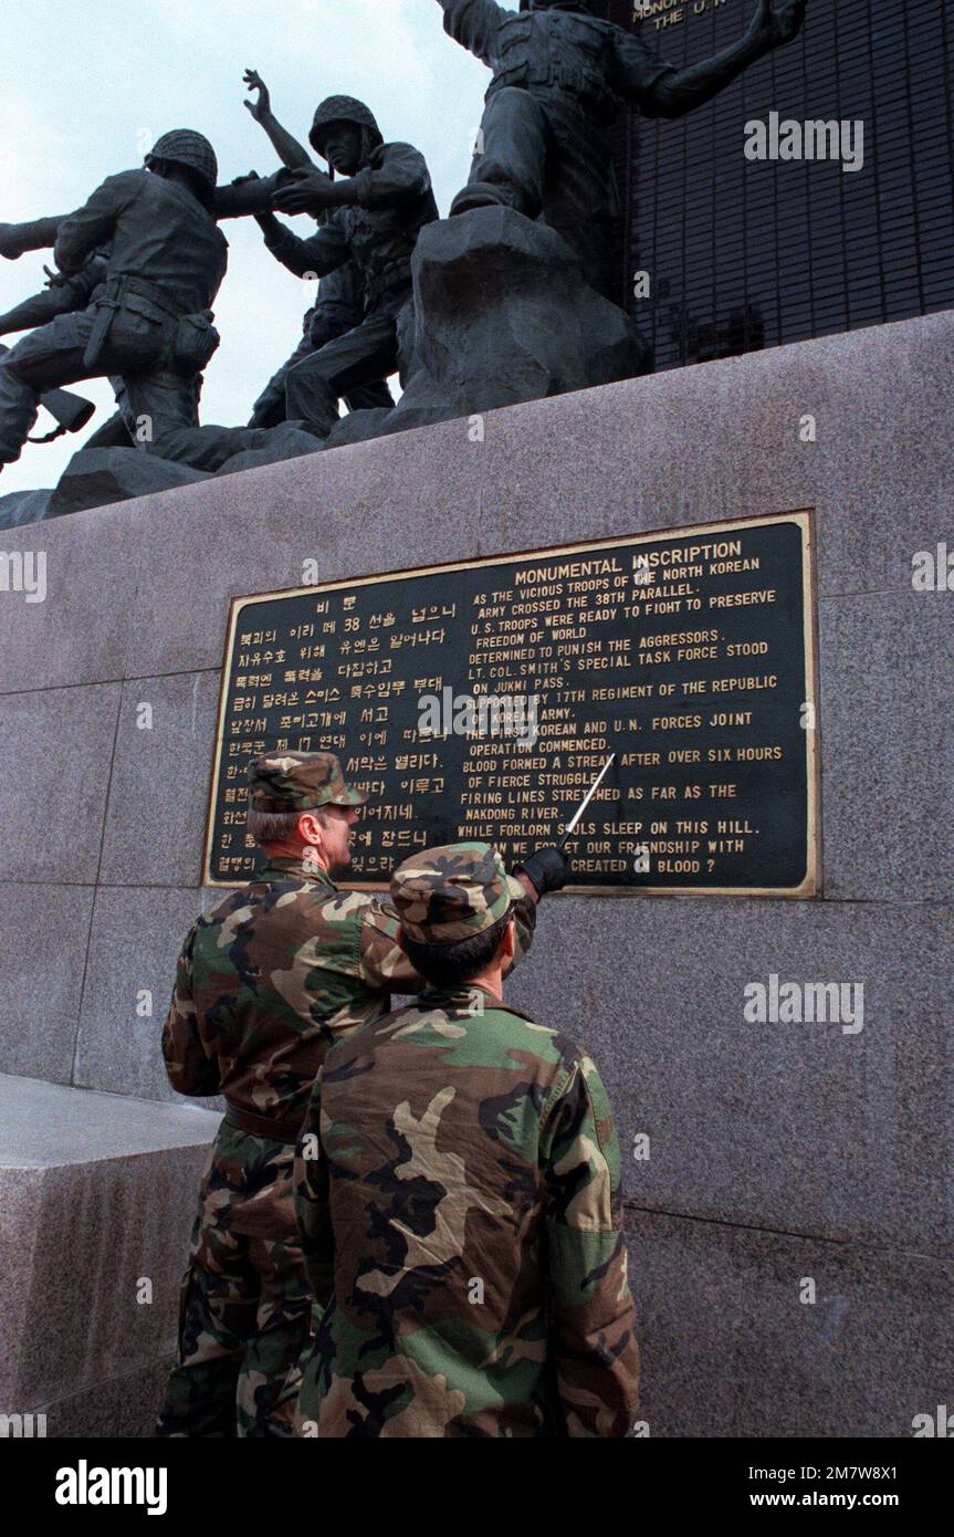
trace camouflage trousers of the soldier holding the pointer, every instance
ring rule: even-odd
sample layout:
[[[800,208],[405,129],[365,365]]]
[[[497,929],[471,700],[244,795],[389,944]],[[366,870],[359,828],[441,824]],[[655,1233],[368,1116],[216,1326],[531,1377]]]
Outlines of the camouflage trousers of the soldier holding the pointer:
[[[312,1296],[295,1228],[295,1150],[220,1128],[180,1297],[158,1436],[289,1437]]]

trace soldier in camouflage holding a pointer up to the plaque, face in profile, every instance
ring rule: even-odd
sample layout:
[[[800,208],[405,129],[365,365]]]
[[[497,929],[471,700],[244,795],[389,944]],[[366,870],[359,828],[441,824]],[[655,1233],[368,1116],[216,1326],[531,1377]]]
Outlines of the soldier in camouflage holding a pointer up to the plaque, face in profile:
[[[200,918],[183,947],[163,1056],[183,1094],[224,1094],[203,1179],[180,1311],[180,1362],[161,1436],[287,1436],[309,1333],[292,1207],[306,1104],[333,1041],[421,978],[396,915],[341,891],[355,807],[332,753],[272,753],[249,768],[249,830],[267,867]],[[533,888],[519,905],[530,945]]]

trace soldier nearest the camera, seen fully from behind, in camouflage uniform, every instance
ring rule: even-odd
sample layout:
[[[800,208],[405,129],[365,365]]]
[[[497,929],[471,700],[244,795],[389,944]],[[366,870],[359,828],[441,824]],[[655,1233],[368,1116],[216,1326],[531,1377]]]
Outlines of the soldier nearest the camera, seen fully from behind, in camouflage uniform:
[[[522,867],[561,884],[562,856]],[[502,999],[521,887],[487,844],[395,871],[429,987],[327,1056],[295,1164],[326,1311],[298,1432],[622,1437],[638,1345],[605,1088]]]

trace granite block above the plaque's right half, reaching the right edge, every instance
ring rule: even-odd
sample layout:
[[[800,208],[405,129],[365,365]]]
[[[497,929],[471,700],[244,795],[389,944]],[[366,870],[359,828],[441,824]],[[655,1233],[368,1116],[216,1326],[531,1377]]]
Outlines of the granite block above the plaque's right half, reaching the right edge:
[[[823,593],[909,589],[913,553],[949,521],[952,366],[954,317],[940,314],[492,412],[481,544],[811,506]],[[800,440],[807,415],[814,443]]]

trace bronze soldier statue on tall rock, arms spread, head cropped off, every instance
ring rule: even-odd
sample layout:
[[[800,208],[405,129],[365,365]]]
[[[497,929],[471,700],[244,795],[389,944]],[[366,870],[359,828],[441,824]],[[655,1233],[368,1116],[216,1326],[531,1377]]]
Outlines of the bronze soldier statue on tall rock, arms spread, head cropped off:
[[[585,3],[438,0],[444,28],[493,71],[470,180],[452,214],[502,203],[541,218],[578,254],[584,277],[610,295],[619,201],[608,131],[622,103],[644,117],[682,117],[748,65],[790,43],[807,0],[759,0],[744,37],[688,69],[595,17]]]

